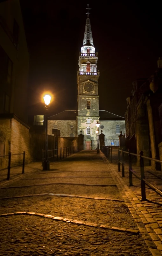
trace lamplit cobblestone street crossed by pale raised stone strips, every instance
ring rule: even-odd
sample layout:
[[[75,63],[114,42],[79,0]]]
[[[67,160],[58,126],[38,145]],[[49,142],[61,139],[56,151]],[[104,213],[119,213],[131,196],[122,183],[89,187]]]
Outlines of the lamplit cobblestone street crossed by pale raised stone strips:
[[[0,255],[161,255],[102,153],[81,151],[50,168],[33,163],[0,182]]]

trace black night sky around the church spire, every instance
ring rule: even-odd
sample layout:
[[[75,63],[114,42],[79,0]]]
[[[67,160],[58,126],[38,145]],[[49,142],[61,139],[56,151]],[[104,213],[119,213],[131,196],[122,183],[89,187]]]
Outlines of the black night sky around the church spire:
[[[77,109],[76,76],[87,3],[99,53],[100,110],[123,116],[132,82],[157,69],[162,56],[160,2],[20,0],[30,52],[30,110],[41,111],[44,90],[54,96],[51,115]]]

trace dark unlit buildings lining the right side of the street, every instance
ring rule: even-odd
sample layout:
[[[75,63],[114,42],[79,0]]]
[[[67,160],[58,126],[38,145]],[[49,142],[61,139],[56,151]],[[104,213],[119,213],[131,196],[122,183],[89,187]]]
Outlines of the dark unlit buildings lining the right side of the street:
[[[134,153],[162,160],[162,59],[148,79],[133,82],[127,98],[126,146]],[[145,164],[149,164],[146,161]],[[155,167],[155,162],[151,165]],[[158,167],[157,167],[158,168]]]

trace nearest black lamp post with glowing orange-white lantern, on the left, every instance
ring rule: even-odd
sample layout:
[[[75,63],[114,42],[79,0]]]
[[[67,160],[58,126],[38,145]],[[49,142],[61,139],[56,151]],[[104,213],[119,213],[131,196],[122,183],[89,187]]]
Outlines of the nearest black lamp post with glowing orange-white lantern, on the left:
[[[47,110],[49,108],[49,104],[51,101],[51,96],[50,95],[45,95],[44,97],[45,101],[45,108],[46,108],[46,115],[45,115],[45,160],[43,161],[43,170],[49,170],[50,169],[50,162],[47,157],[47,150],[48,150],[48,135],[47,135],[47,125],[48,125],[48,120],[47,120]]]

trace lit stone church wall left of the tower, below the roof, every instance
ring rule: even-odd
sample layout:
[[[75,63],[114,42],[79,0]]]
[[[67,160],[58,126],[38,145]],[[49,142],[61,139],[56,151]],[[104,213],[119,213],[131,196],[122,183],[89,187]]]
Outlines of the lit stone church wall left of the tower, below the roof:
[[[60,137],[70,137],[70,133],[74,133],[74,137],[77,137],[76,120],[48,120],[48,134],[52,134],[54,124],[58,125],[58,130],[60,130]],[[74,125],[74,128],[70,127],[71,124]]]

